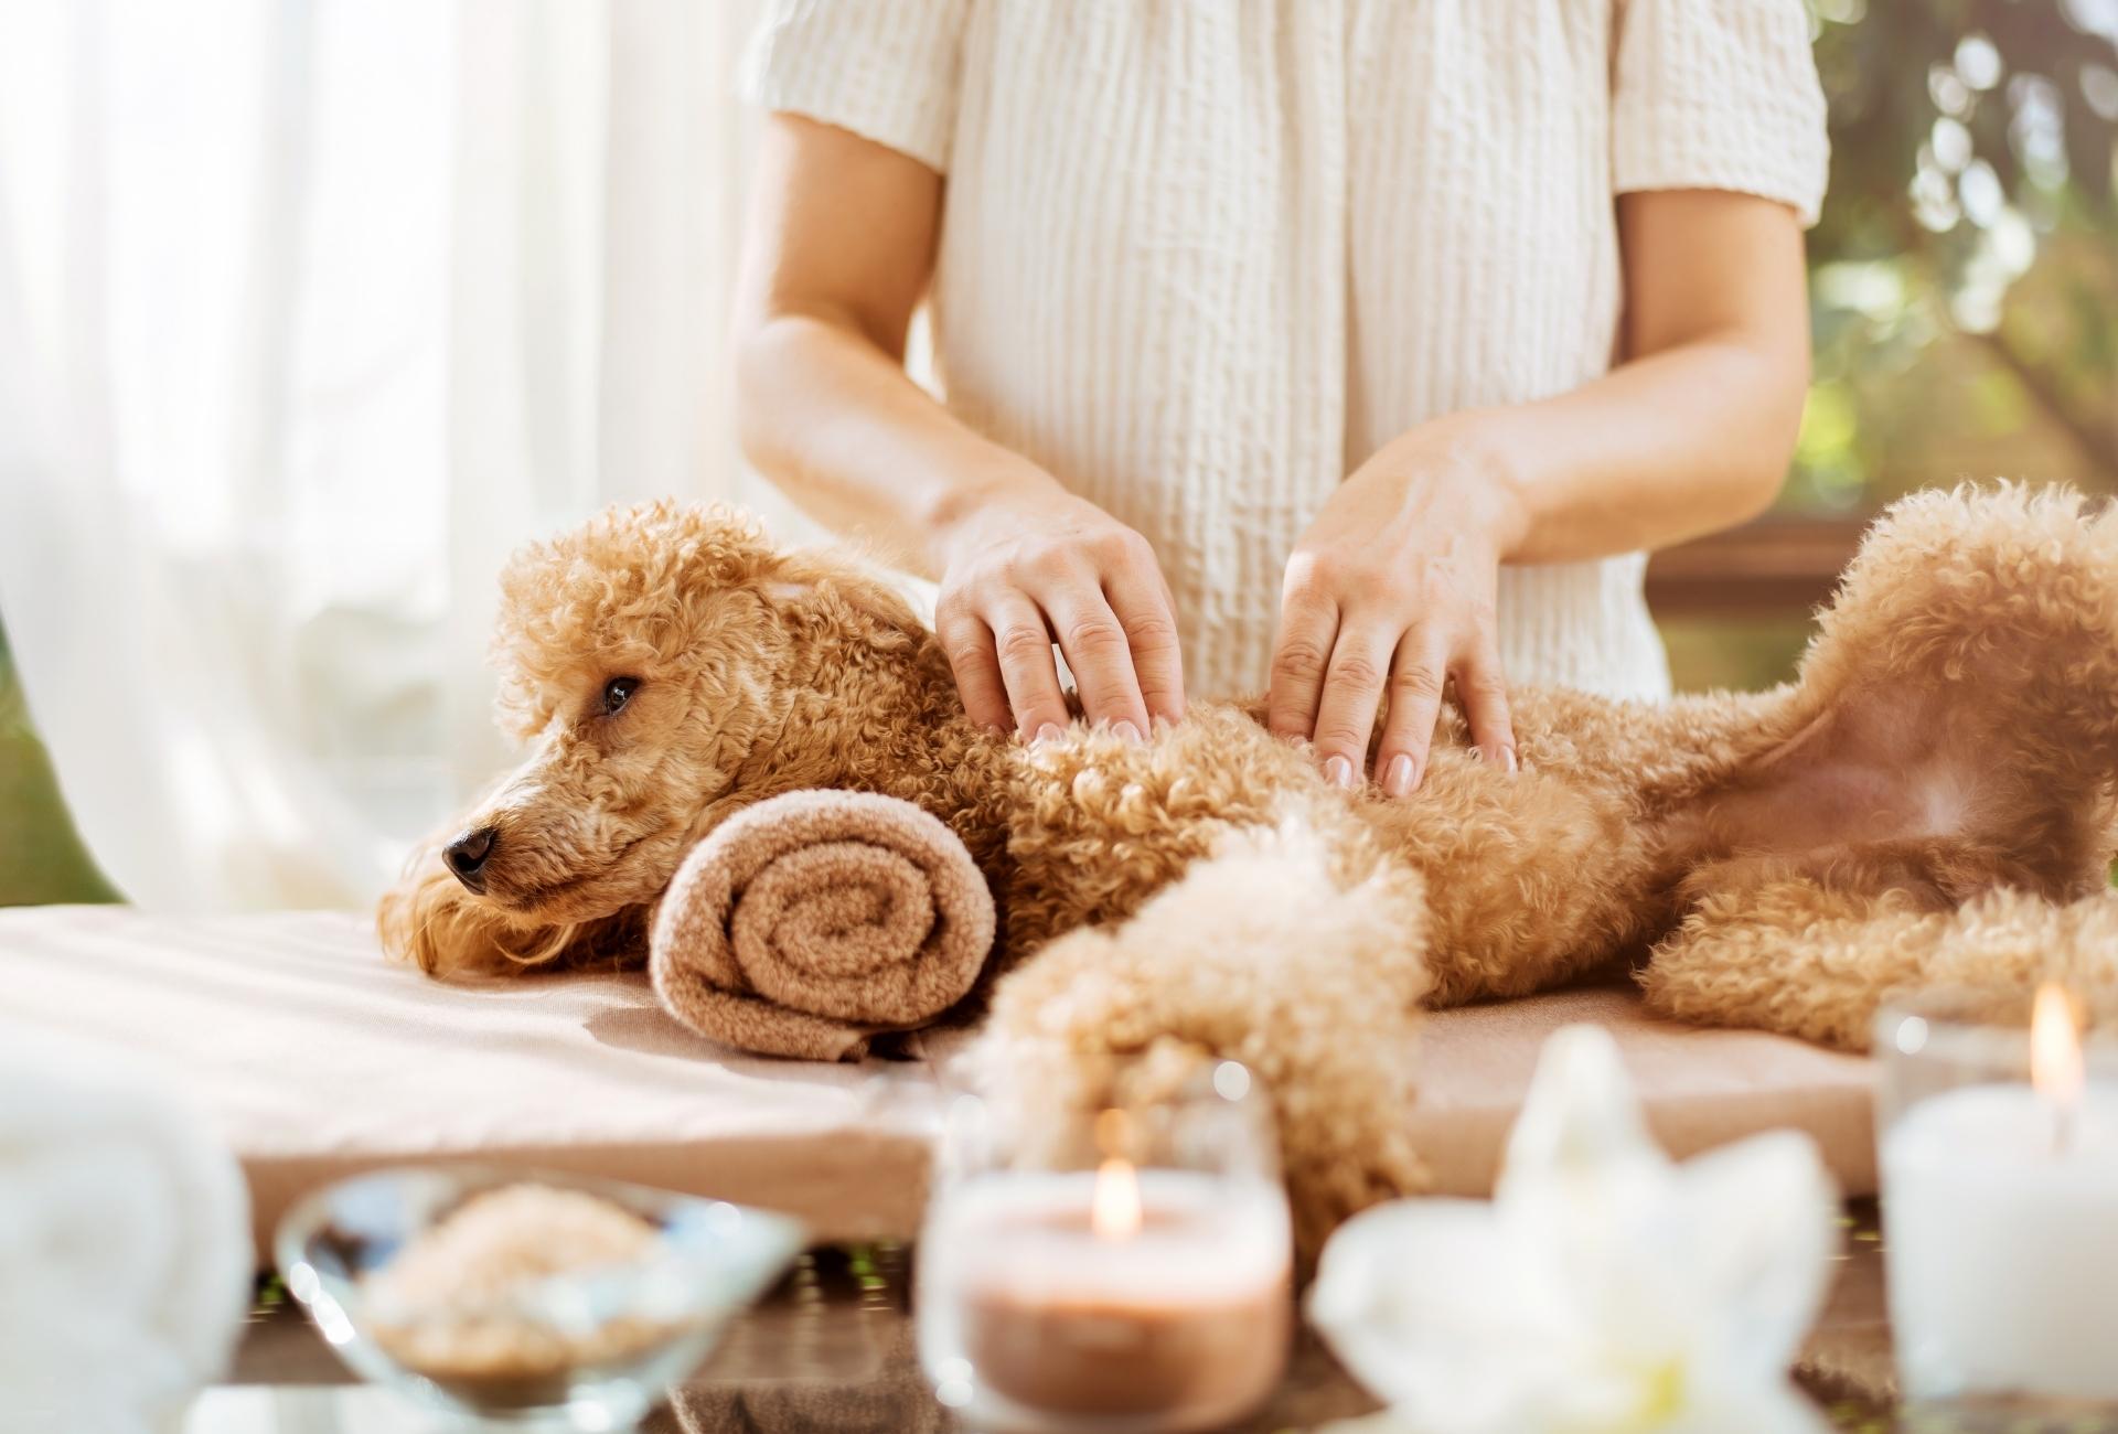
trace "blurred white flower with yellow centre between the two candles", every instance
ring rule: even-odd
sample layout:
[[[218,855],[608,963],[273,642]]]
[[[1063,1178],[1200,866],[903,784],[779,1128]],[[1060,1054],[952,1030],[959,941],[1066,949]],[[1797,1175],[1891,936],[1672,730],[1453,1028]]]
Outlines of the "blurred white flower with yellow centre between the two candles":
[[[1349,1220],[1309,1320],[1389,1404],[1375,1432],[1811,1434],[1788,1364],[1836,1209],[1796,1131],[1673,1165],[1616,1042],[1576,1025],[1538,1059],[1493,1201]]]

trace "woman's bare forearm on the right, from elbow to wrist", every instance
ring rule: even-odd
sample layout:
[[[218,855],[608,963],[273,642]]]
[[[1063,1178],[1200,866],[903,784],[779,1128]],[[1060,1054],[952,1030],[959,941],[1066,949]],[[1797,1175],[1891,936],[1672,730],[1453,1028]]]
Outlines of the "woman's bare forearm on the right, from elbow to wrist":
[[[1711,335],[1633,360],[1574,392],[1459,413],[1402,445],[1406,470],[1470,472],[1495,491],[1504,561],[1661,549],[1762,513],[1794,453],[1807,356]]]

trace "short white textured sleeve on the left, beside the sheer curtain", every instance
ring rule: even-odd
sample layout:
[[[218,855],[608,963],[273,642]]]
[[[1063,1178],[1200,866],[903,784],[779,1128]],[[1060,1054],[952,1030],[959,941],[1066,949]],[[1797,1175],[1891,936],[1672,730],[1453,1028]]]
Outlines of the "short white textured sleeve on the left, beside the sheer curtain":
[[[966,0],[767,0],[743,95],[949,167]]]

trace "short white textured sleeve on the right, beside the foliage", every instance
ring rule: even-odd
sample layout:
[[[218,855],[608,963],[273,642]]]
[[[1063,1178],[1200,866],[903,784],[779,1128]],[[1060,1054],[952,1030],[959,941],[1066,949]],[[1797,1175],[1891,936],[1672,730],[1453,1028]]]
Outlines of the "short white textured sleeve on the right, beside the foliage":
[[[1802,0],[1618,0],[1612,184],[1733,189],[1817,222],[1830,174]]]

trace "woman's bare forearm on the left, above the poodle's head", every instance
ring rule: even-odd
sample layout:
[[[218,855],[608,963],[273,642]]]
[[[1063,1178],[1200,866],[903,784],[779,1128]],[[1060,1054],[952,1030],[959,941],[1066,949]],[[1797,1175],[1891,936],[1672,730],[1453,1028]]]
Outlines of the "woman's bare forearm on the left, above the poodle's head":
[[[926,576],[938,538],[1008,489],[1057,489],[979,436],[847,318],[771,313],[739,341],[743,455],[809,515]]]

